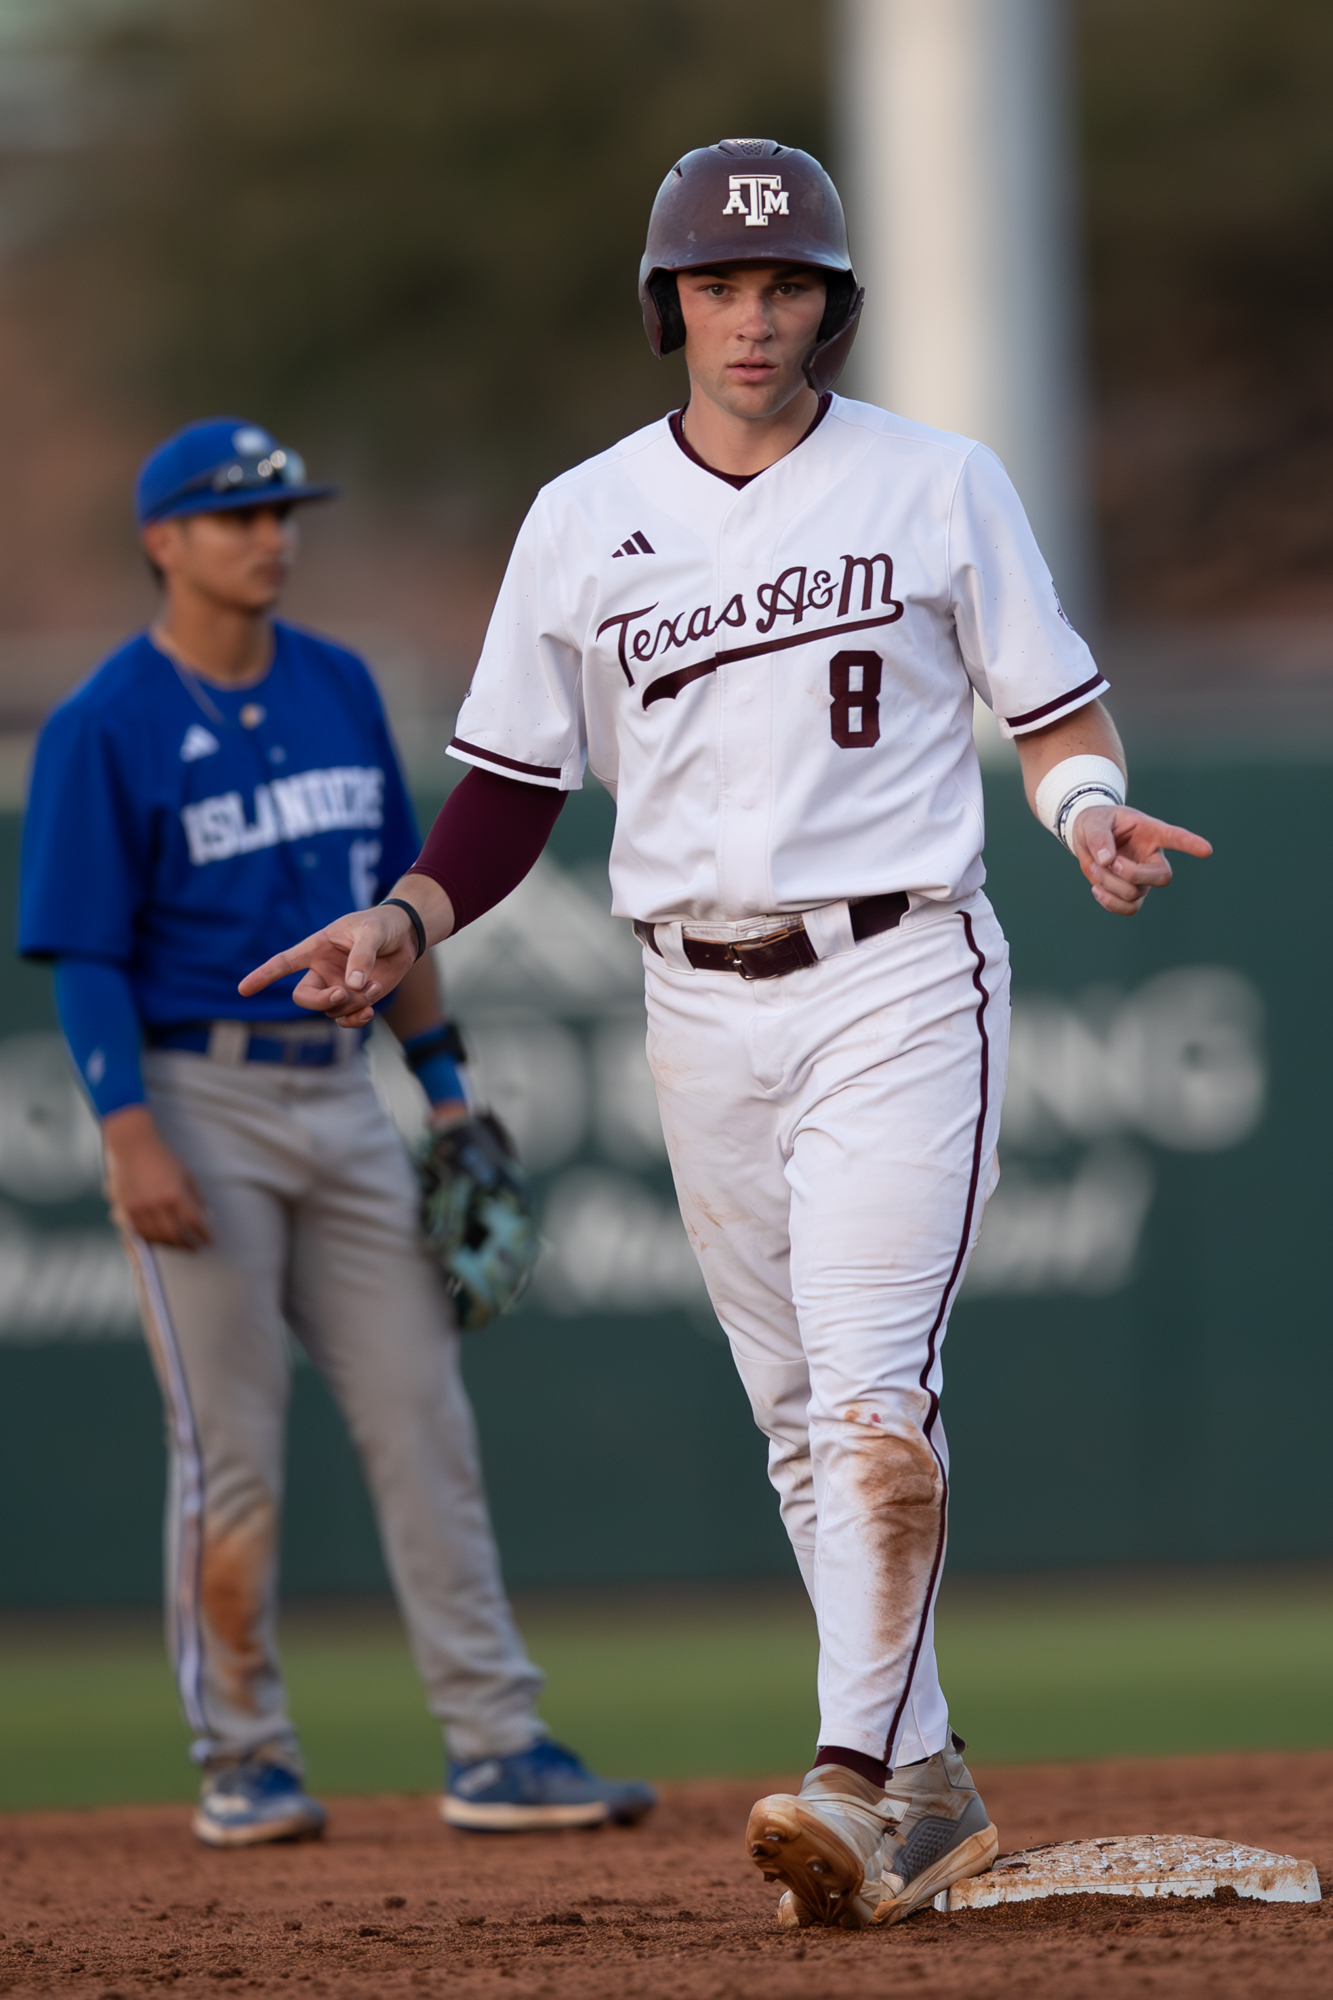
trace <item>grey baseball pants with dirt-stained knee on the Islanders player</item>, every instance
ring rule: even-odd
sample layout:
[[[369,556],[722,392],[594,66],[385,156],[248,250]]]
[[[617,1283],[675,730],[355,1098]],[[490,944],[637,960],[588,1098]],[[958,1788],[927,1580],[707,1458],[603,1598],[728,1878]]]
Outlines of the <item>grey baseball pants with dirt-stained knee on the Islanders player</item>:
[[[274,1640],[288,1328],[360,1452],[430,1712],[460,1762],[526,1750],[542,1676],[500,1584],[458,1334],[360,1054],[326,1070],[144,1054],[212,1246],[130,1242],[166,1402],[168,1642],[200,1764],[296,1760]]]

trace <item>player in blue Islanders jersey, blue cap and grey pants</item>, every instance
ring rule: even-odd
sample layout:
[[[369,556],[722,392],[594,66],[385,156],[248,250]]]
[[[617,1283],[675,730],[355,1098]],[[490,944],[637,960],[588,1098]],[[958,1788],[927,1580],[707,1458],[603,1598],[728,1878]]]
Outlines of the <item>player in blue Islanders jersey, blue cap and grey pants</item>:
[[[362,1054],[236,978],[294,928],[372,904],[418,838],[378,694],[272,618],[294,508],[332,494],[238,418],[138,478],[162,586],[148,632],[48,720],[24,832],[24,954],[102,1120],[112,1212],[166,1404],[166,1610],[212,1846],[318,1834],[274,1646],[288,1328],[360,1452],[430,1710],[442,1814],[518,1830],[634,1820],[548,1742],[500,1584],[458,1336],[418,1188]],[[436,1124],[466,1116],[430,960],[384,1010]]]

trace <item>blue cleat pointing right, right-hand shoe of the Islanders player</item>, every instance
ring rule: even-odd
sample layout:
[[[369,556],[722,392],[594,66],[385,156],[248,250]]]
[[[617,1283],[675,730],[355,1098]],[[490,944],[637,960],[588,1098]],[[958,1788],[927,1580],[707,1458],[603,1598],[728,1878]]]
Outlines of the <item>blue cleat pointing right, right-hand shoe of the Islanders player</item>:
[[[440,1818],[472,1834],[534,1834],[558,1826],[634,1826],[656,1806],[650,1784],[594,1778],[572,1750],[540,1742],[474,1764],[450,1760]]]

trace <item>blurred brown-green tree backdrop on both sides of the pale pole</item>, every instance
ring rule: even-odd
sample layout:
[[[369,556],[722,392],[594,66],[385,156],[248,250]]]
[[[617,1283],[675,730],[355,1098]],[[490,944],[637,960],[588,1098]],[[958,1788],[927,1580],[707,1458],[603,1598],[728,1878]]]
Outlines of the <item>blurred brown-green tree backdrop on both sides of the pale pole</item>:
[[[1109,616],[1327,612],[1333,12],[1075,16]],[[10,634],[140,614],[128,474],[226,408],[348,484],[334,616],[472,632],[536,484],[681,394],[634,298],[662,170],[739,130],[839,164],[823,0],[8,0],[0,28]]]

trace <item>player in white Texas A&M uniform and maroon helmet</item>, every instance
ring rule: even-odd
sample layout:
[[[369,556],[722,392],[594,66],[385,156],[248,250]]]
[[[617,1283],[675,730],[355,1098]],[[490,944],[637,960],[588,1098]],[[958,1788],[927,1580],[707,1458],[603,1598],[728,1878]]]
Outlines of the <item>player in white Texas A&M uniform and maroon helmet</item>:
[[[458,716],[472,772],[394,890],[412,908],[346,916],[242,992],[308,968],[294,998],[354,1028],[584,764],[610,788],[681,1214],[819,1622],[815,1764],[755,1806],[749,1852],[785,1926],[887,1924],[997,1852],[933,1648],[941,1354],[1009,1030],[973,694],[1105,910],[1209,846],[1125,804],[1107,682],[999,460],[831,394],[863,294],[819,162],[687,154],[640,300],[689,402],[536,498]]]

